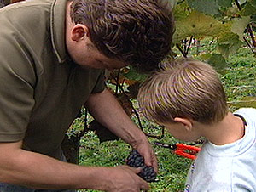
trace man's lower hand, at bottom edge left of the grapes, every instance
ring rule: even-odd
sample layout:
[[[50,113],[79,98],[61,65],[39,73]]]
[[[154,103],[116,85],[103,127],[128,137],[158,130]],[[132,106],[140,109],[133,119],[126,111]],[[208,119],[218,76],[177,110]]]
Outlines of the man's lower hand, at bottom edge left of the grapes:
[[[139,192],[141,189],[148,190],[148,183],[137,176],[141,168],[128,166],[110,167],[110,184],[108,192]]]

